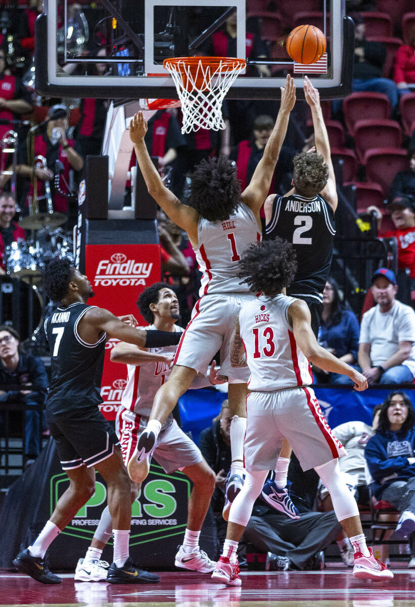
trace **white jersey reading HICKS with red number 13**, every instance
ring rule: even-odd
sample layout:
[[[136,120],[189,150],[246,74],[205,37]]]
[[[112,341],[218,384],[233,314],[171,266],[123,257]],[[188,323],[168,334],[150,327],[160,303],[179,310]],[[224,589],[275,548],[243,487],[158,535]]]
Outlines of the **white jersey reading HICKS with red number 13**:
[[[279,294],[242,305],[240,334],[251,371],[250,390],[271,392],[312,384],[311,365],[288,322],[288,308],[295,300]]]

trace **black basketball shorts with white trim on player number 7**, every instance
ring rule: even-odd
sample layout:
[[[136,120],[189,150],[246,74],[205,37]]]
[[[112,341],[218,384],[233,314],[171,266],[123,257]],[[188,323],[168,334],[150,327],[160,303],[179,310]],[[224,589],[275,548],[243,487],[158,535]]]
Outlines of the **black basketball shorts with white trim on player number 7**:
[[[95,466],[112,455],[120,441],[110,422],[94,409],[78,409],[67,416],[48,419],[62,470]]]

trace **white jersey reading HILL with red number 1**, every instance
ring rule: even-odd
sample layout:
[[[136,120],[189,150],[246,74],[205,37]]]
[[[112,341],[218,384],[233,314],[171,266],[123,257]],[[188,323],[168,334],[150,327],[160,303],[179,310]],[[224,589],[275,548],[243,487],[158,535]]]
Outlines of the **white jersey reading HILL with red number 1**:
[[[194,248],[201,273],[199,296],[212,293],[249,293],[236,276],[238,261],[249,245],[261,241],[254,212],[244,203],[223,222],[202,217],[197,227],[198,246]]]

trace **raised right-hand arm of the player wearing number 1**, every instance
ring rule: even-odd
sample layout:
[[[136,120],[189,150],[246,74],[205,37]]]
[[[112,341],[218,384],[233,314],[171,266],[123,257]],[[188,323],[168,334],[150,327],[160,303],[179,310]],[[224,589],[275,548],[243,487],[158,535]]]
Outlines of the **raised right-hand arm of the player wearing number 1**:
[[[271,187],[272,175],[275,164],[285,140],[288,127],[289,114],[295,104],[294,80],[288,74],[285,87],[281,89],[281,105],[277,121],[272,129],[271,137],[266,143],[265,150],[257,168],[252,175],[249,186],[242,192],[242,200],[249,208],[258,213],[263,205],[269,188]]]

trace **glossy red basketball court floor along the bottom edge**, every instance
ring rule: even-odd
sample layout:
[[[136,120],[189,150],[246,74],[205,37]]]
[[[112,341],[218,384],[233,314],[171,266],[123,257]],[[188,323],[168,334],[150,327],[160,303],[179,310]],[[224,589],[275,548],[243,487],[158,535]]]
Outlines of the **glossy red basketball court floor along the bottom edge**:
[[[111,585],[74,582],[62,575],[62,584],[42,585],[31,578],[0,573],[0,605],[68,605],[127,607],[154,605],[190,607],[410,607],[415,604],[415,570],[393,567],[390,582],[355,580],[351,569],[325,571],[241,572],[242,586],[215,584],[209,574],[161,573],[157,585]]]

